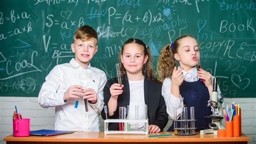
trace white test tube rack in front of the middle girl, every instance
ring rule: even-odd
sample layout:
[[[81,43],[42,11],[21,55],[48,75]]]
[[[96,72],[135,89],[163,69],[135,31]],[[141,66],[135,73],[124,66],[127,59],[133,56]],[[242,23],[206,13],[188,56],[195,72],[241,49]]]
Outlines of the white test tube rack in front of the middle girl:
[[[119,123],[119,122],[122,122],[124,123],[124,131],[109,131],[108,129],[108,124],[109,123]],[[128,127],[128,124],[130,123],[144,123],[144,125],[146,126],[146,131],[128,131],[127,127]],[[149,121],[146,120],[146,119],[143,119],[143,120],[126,120],[126,119],[107,119],[107,120],[104,120],[104,134],[149,134]]]

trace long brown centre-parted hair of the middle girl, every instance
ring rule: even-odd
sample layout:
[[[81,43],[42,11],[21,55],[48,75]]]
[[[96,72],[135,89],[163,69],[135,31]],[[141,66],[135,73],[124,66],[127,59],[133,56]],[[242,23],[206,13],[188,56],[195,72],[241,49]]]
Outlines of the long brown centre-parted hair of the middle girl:
[[[147,61],[146,63],[143,65],[143,74],[145,74],[145,76],[151,80],[156,80],[156,76],[154,76],[154,73],[153,73],[153,66],[152,66],[152,61],[151,61],[151,52],[150,52],[150,47],[147,46],[142,40],[140,39],[136,39],[136,38],[130,38],[128,40],[126,40],[126,42],[123,44],[121,50],[120,50],[120,53],[119,53],[119,64],[120,64],[120,73],[121,74],[124,74],[126,73],[126,70],[124,68],[124,65],[121,63],[121,60],[120,60],[120,56],[121,54],[123,54],[123,51],[124,51],[124,46],[126,44],[131,44],[131,43],[135,43],[135,44],[138,44],[138,45],[141,45],[143,46],[143,52],[144,52],[144,56],[147,56]]]

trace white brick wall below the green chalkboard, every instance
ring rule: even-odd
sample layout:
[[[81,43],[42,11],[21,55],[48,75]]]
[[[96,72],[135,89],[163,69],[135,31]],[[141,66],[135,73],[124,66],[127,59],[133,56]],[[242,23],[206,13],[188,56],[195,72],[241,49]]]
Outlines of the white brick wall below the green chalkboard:
[[[225,98],[226,104],[235,101],[242,108],[242,133],[251,138],[250,144],[256,143],[256,98]],[[30,118],[30,130],[54,129],[54,108],[42,108],[37,98],[30,97],[0,97],[0,143],[4,136],[12,134],[12,114],[18,107],[23,118]],[[169,123],[169,125],[171,122]],[[168,127],[168,126],[167,126]],[[103,123],[101,126],[103,130]]]

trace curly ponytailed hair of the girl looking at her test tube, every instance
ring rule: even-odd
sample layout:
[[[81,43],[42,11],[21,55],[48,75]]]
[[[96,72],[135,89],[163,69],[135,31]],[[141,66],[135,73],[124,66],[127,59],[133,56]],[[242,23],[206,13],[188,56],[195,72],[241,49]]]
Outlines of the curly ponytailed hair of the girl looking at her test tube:
[[[173,44],[168,44],[161,50],[157,64],[157,74],[159,81],[163,82],[165,78],[172,77],[173,68],[175,66],[174,54],[178,52],[180,39],[185,37],[194,38],[191,35],[180,36],[174,40]]]

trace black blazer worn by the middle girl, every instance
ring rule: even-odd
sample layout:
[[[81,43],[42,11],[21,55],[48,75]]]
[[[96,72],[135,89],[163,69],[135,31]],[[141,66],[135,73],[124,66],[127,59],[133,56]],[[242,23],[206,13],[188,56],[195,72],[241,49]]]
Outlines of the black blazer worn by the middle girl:
[[[110,87],[112,84],[118,83],[117,78],[112,78],[107,80],[107,83],[104,87],[104,103],[107,106],[109,99],[111,97]],[[129,81],[126,74],[122,76],[123,93],[118,96],[117,107],[126,107],[130,104],[130,88]],[[157,81],[149,80],[145,77],[144,79],[144,100],[147,105],[147,118],[149,119],[149,125],[157,125],[161,131],[168,122],[168,114],[166,113],[166,105],[164,98],[161,96],[161,87],[162,84]],[[109,108],[107,108],[109,109]],[[105,112],[102,110],[102,118],[105,120]],[[107,114],[108,119],[119,119],[119,108],[116,109],[116,112],[112,116]],[[118,131],[118,123],[109,124],[110,131]]]

